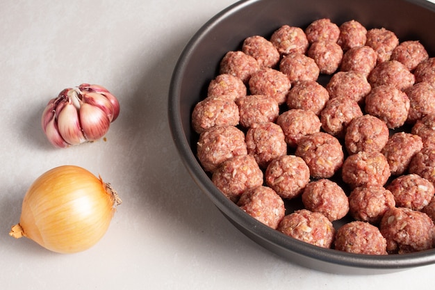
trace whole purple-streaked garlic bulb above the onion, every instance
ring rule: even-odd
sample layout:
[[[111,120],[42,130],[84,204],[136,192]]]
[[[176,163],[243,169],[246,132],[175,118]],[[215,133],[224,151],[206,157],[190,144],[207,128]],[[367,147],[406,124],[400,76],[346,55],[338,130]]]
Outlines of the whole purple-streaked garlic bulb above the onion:
[[[51,144],[69,147],[103,137],[119,113],[119,102],[106,88],[82,83],[51,99],[41,124]]]

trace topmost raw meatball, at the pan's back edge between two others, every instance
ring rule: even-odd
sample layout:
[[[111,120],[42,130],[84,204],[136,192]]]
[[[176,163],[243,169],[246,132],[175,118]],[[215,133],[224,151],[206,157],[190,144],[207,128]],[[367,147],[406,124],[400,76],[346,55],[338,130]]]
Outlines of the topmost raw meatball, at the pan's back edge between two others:
[[[309,43],[324,40],[337,42],[340,29],[337,24],[331,22],[331,19],[322,18],[311,22],[305,29],[305,34]]]

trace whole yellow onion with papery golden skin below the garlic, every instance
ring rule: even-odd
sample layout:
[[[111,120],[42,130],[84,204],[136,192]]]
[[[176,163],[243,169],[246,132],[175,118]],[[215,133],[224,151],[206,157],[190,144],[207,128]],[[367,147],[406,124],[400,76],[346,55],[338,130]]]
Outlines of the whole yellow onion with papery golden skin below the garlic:
[[[19,223],[9,234],[54,252],[80,252],[104,236],[118,204],[117,193],[101,177],[78,166],[60,166],[28,188]]]

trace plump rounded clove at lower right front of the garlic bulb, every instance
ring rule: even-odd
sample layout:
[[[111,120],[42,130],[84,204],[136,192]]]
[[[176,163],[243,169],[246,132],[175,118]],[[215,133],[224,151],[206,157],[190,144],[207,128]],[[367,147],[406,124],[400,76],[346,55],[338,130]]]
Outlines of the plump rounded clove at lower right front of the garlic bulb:
[[[110,126],[110,119],[98,106],[83,103],[80,107],[81,129],[89,141],[103,137]]]

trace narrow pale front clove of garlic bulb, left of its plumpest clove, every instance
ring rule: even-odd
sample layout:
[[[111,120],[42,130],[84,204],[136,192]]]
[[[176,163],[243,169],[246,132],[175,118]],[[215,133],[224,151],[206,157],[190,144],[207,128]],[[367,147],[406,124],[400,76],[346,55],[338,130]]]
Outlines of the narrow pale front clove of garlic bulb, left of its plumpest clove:
[[[76,107],[71,101],[65,102],[65,104],[65,106],[60,108],[58,113],[58,131],[60,136],[71,145],[86,142],[85,136],[83,136],[81,131],[79,113]],[[56,112],[58,108],[56,108]]]

